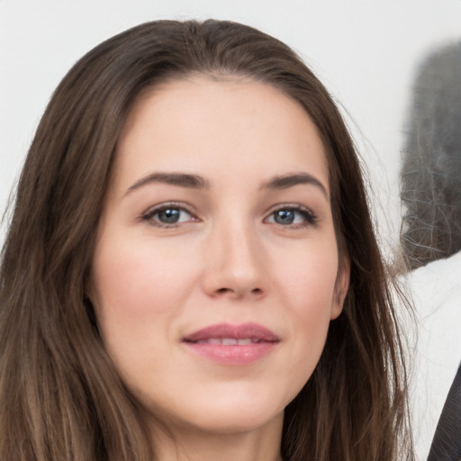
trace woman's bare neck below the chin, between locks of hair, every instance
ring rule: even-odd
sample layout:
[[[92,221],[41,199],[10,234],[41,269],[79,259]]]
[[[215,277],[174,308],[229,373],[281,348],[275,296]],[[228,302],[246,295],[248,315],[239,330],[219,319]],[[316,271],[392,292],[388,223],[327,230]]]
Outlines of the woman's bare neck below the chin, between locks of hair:
[[[240,433],[197,429],[152,430],[158,461],[282,461],[283,417]]]

